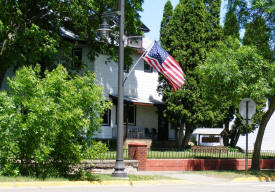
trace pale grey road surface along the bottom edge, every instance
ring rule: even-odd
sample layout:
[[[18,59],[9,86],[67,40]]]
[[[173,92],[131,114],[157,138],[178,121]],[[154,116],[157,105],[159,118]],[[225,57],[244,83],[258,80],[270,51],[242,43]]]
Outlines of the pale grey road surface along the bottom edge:
[[[1,192],[275,192],[275,182],[139,184],[134,186],[43,186],[0,188]]]

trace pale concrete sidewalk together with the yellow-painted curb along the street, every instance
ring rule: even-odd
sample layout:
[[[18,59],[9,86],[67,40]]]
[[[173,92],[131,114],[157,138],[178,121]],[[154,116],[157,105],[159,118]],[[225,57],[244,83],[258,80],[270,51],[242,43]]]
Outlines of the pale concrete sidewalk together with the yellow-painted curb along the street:
[[[111,172],[110,172],[111,174]],[[11,187],[42,187],[42,186],[87,186],[87,185],[156,185],[156,184],[224,184],[240,182],[270,182],[275,181],[275,177],[238,177],[223,178],[205,176],[195,173],[184,173],[178,171],[140,171],[132,172],[133,175],[161,175],[171,179],[130,181],[128,179],[111,181],[45,181],[45,182],[2,182],[0,188]]]

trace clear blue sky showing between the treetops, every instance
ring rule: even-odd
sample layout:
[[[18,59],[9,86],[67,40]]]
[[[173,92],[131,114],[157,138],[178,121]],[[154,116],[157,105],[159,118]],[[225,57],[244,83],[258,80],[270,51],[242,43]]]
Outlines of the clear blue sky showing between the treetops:
[[[179,3],[179,0],[170,0],[173,8]],[[167,0],[144,0],[142,5],[143,12],[140,13],[141,21],[151,30],[149,33],[145,33],[145,37],[150,40],[159,40],[160,23],[163,16],[164,5]],[[225,1],[222,0],[223,7],[221,11],[221,24],[223,23],[225,12]]]

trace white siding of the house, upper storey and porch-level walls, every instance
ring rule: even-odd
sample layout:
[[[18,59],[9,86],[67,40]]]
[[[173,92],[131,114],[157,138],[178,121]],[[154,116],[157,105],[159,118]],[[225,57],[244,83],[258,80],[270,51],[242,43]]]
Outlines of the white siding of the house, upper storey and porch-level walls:
[[[133,56],[133,64],[138,60],[140,54]],[[85,57],[85,55],[84,55]],[[95,73],[96,83],[104,86],[104,95],[106,99],[109,94],[118,95],[118,64],[114,61],[105,63],[108,59],[105,55],[99,55],[93,63],[88,62],[88,70]],[[126,74],[125,74],[126,75]],[[139,101],[153,102],[161,101],[161,96],[157,93],[158,73],[144,72],[144,62],[140,60],[136,65],[124,86],[124,95],[138,98]],[[129,125],[129,128],[158,128],[158,114],[155,106],[136,107],[136,125]],[[112,107],[111,125],[101,127],[101,132],[96,135],[98,138],[112,138],[116,136],[116,106]]]

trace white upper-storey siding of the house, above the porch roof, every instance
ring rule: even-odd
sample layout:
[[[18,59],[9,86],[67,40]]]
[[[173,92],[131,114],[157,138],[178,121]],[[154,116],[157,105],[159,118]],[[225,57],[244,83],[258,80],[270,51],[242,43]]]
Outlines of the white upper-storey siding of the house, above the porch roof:
[[[134,63],[138,60],[139,56],[140,55],[133,56]],[[91,63],[88,65],[88,69],[94,69],[92,71],[94,71],[96,75],[96,82],[104,86],[106,97],[108,97],[109,94],[118,94],[118,64],[113,61],[105,63],[107,59],[107,56],[99,55],[94,62],[94,67],[90,67]],[[153,73],[144,72],[143,65],[143,60],[140,60],[126,80],[124,95],[139,98],[147,102],[154,100],[161,101],[161,96],[159,96],[156,91],[158,86],[158,73],[156,71],[153,71]]]

